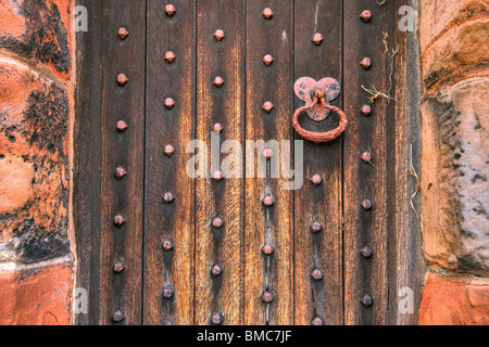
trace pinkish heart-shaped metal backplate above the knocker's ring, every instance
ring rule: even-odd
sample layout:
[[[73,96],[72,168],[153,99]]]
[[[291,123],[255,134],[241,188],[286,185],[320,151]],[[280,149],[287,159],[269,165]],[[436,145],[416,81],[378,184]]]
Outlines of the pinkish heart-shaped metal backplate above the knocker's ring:
[[[316,89],[324,90],[324,94],[326,98],[326,102],[335,100],[339,97],[341,86],[335,78],[323,78],[319,81],[314,80],[311,77],[302,77],[299,78],[293,85],[293,91],[296,95],[305,102],[305,104],[310,104],[313,101],[314,91]],[[328,117],[329,110],[323,107],[321,103],[314,106],[314,108],[308,111],[308,116],[316,121],[324,120]]]

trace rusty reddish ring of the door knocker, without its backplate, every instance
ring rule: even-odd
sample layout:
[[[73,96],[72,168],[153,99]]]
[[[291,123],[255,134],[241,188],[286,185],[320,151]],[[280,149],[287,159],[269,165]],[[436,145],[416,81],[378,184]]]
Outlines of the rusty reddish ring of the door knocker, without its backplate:
[[[314,132],[303,129],[299,124],[299,116],[301,113],[314,108],[314,106],[318,103],[321,100],[321,104],[326,107],[327,110],[330,110],[333,112],[336,112],[340,116],[340,123],[338,128],[327,131],[327,132]],[[331,106],[326,102],[324,91],[321,89],[316,89],[314,91],[314,99],[313,102],[300,107],[296,111],[292,118],[292,125],[296,131],[305,140],[312,141],[312,142],[329,142],[333,141],[341,136],[341,133],[347,129],[348,126],[348,119],[344,112],[342,112],[340,108],[336,106]]]

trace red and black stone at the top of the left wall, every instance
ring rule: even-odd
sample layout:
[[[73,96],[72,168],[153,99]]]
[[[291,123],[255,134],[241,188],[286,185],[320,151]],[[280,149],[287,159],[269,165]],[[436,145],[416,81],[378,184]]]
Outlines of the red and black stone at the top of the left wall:
[[[48,64],[58,77],[71,72],[71,1],[2,1],[0,48],[34,63]]]

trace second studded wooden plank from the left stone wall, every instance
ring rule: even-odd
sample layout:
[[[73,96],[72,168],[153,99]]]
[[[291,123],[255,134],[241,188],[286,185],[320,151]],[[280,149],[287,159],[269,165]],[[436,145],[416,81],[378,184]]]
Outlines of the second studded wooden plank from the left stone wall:
[[[195,1],[180,1],[176,14],[166,2],[148,1],[145,324],[193,323],[195,181],[186,172],[187,144],[195,138]],[[164,60],[172,51],[176,59]],[[173,107],[165,106],[173,99]],[[168,104],[170,105],[170,104]],[[165,153],[165,146],[175,149]],[[175,201],[166,204],[171,192]],[[172,249],[164,250],[163,242]],[[163,298],[170,287],[173,298]]]

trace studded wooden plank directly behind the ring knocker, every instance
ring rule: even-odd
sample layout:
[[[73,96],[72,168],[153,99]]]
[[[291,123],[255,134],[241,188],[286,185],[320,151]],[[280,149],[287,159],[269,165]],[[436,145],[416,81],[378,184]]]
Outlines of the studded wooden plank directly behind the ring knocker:
[[[296,79],[333,77],[341,82],[341,1],[296,1],[294,27]],[[316,33],[324,37],[319,46],[312,41]],[[339,100],[333,104],[339,105]],[[296,99],[296,107],[302,105]],[[300,123],[308,130],[328,131],[338,127],[338,117],[331,114],[326,120],[316,123],[302,115]],[[300,139],[299,136],[296,138]],[[314,175],[323,179],[318,187],[310,181]],[[296,324],[311,324],[316,318],[325,324],[341,324],[340,139],[324,144],[304,141],[304,184],[296,191],[294,206]],[[324,229],[313,233],[311,224],[316,221],[323,223]],[[321,281],[314,281],[311,277],[316,268],[324,272]]]

